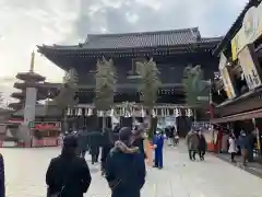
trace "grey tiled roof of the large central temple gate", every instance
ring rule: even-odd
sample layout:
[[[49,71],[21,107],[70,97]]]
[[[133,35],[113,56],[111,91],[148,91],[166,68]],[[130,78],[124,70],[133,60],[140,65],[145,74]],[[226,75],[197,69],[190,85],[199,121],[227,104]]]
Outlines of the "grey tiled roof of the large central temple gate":
[[[124,33],[124,34],[88,34],[87,39],[83,44],[76,46],[60,46],[53,45],[52,49],[131,49],[131,48],[147,48],[147,47],[166,47],[189,45],[195,43],[215,43],[219,42],[221,37],[201,38],[198,27],[158,31],[158,32],[141,32],[141,33]],[[48,46],[39,47],[46,48]]]

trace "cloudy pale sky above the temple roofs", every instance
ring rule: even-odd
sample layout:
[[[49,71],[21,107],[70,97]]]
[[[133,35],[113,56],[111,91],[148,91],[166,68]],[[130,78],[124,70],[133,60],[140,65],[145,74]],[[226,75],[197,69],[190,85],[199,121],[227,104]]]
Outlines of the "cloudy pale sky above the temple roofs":
[[[0,92],[29,69],[36,45],[84,42],[87,33],[162,31],[199,26],[224,35],[248,0],[0,0]],[[36,54],[36,72],[59,82],[63,71]],[[51,70],[51,72],[50,72]]]

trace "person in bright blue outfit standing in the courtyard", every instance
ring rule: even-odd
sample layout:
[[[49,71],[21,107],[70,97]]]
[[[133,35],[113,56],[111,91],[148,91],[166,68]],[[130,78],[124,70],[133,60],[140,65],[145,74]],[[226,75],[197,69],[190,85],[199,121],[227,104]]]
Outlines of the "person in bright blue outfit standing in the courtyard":
[[[164,136],[160,131],[156,131],[154,136],[154,149],[155,149],[155,165],[154,167],[163,169],[163,146],[164,146]]]

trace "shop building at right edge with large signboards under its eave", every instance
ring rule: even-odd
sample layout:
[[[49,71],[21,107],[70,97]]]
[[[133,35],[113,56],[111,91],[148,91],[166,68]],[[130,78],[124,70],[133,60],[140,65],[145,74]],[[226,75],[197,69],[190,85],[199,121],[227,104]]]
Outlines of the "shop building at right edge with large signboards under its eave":
[[[262,3],[250,0],[214,50],[219,57],[213,119],[226,130],[253,132],[255,154],[262,137]]]

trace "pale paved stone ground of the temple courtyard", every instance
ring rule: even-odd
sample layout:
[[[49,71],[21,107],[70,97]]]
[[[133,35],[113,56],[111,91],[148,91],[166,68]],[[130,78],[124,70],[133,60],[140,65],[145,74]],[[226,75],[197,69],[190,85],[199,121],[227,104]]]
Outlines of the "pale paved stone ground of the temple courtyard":
[[[8,197],[45,197],[45,173],[59,148],[0,149],[5,160]],[[148,167],[142,197],[261,197],[262,179],[212,154],[190,162],[183,144],[165,149],[165,167]],[[88,161],[88,157],[86,158]],[[90,163],[90,162],[88,162]],[[110,196],[99,166],[90,166],[93,182],[85,197]]]

